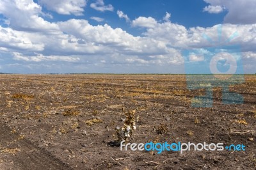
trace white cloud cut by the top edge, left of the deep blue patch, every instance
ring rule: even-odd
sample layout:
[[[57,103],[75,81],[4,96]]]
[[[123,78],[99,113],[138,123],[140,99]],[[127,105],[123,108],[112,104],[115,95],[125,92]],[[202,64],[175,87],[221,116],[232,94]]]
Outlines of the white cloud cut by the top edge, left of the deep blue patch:
[[[83,15],[86,0],[39,0],[48,10],[64,15]]]

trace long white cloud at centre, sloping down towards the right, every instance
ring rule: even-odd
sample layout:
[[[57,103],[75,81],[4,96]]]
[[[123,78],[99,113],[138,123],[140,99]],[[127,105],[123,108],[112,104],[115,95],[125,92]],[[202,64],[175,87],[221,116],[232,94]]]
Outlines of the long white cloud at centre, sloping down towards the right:
[[[164,43],[150,38],[134,37],[120,28],[113,29],[104,26],[92,26],[87,20],[68,20],[59,22],[61,31],[80,38],[86,43],[92,43],[95,47],[100,47],[105,54],[118,52],[129,55],[134,54],[166,54]]]

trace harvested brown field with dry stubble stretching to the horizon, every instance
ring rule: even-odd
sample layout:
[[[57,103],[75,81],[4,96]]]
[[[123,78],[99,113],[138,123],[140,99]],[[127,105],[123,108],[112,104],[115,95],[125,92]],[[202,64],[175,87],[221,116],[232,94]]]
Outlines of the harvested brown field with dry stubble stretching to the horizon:
[[[185,75],[0,75],[0,169],[255,169],[256,76],[230,86],[244,104],[191,107]],[[130,143],[244,144],[245,151],[120,151]]]

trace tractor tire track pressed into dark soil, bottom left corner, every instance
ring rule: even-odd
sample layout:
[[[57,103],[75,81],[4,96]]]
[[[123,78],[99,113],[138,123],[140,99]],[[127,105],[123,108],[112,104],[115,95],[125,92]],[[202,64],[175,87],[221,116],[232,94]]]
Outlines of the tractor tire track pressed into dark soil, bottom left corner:
[[[19,134],[12,134],[11,128],[4,123],[0,123],[0,144],[1,149],[19,148],[14,155],[8,153],[7,159],[13,162],[13,166],[4,169],[72,169],[44,148],[26,138],[19,139]]]

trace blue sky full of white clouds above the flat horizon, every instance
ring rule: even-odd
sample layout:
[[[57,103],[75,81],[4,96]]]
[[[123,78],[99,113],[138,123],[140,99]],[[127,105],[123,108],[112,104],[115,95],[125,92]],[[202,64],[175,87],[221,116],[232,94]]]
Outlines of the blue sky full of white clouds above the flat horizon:
[[[255,8],[256,0],[1,0],[0,72],[256,73]]]

